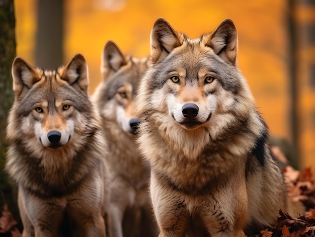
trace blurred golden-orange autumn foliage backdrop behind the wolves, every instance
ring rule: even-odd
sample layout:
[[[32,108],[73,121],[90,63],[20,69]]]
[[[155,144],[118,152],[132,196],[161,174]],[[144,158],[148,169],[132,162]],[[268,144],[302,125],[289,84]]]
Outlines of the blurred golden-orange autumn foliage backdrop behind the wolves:
[[[17,55],[32,65],[36,65],[37,4],[36,0],[15,0]],[[210,32],[231,18],[239,34],[239,66],[271,134],[297,148],[299,169],[315,171],[315,28],[305,30],[311,32],[310,42],[303,38],[304,31],[300,35],[297,31],[300,37],[293,41],[297,51],[292,54],[288,21],[294,19],[297,29],[313,26],[312,1],[64,0],[63,8],[62,63],[77,52],[86,57],[91,93],[100,82],[101,52],[107,40],[114,40],[125,53],[144,57],[149,54],[149,34],[156,18],[164,17],[189,37]],[[292,58],[298,75],[294,85],[290,81]],[[297,95],[293,96],[295,86]],[[294,105],[297,120],[293,128]]]

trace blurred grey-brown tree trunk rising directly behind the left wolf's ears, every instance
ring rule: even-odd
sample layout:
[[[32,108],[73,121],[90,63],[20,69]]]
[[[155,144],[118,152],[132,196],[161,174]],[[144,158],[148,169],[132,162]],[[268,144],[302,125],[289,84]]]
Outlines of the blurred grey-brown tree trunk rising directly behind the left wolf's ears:
[[[56,69],[63,63],[63,0],[40,0],[37,12],[36,66]]]

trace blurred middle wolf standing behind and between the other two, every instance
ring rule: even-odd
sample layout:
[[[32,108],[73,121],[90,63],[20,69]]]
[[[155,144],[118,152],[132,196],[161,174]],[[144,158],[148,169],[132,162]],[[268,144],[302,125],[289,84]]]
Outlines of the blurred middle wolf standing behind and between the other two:
[[[149,168],[135,143],[139,119],[134,98],[148,65],[148,57],[125,55],[112,40],[106,42],[102,51],[102,80],[93,102],[100,111],[109,144],[109,234],[113,237],[157,236],[149,204]]]

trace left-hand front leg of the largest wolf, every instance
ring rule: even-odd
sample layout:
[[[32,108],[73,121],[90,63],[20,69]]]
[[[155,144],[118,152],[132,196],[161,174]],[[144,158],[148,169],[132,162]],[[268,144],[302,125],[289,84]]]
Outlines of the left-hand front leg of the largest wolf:
[[[160,228],[159,237],[183,237],[190,222],[185,200],[180,193],[164,186],[151,176],[151,199],[157,225]]]

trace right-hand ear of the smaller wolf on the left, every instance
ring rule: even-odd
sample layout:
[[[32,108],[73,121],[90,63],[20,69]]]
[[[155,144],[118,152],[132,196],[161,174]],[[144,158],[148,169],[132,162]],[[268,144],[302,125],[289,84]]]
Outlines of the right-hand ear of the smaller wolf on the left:
[[[77,88],[78,86],[79,89],[85,93],[88,93],[88,65],[82,54],[75,54],[73,58],[64,66],[61,78],[74,88]]]

